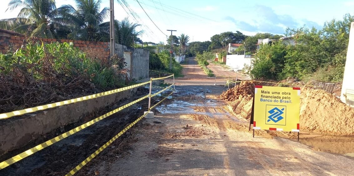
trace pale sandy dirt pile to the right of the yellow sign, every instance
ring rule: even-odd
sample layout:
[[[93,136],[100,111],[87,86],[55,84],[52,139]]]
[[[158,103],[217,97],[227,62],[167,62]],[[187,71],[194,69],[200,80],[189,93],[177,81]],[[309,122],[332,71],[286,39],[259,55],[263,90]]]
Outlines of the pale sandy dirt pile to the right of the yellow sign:
[[[354,135],[354,108],[323,90],[302,88],[300,129],[328,135]]]

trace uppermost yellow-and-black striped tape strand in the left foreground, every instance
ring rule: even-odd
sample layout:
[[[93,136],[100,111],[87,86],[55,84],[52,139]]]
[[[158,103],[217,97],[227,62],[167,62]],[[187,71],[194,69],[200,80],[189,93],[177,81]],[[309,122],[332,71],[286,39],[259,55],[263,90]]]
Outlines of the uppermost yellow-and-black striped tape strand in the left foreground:
[[[102,92],[102,93],[96,93],[96,94],[93,94],[93,95],[84,96],[84,97],[80,97],[80,98],[74,98],[74,99],[71,99],[71,100],[65,100],[65,101],[61,101],[61,102],[46,104],[46,105],[37,106],[37,107],[33,107],[33,108],[27,108],[27,109],[22,109],[22,110],[15,110],[13,112],[8,112],[8,113],[2,113],[2,114],[0,114],[0,120],[1,119],[7,119],[7,118],[10,118],[10,117],[13,117],[13,116],[17,116],[17,115],[23,115],[23,114],[27,114],[27,113],[36,112],[36,111],[39,111],[39,110],[45,110],[45,109],[49,109],[49,108],[59,107],[59,106],[63,106],[63,105],[71,104],[71,103],[75,103],[75,102],[90,100],[90,99],[93,99],[93,98],[102,97],[102,96],[110,95],[110,94],[113,94],[113,93],[117,93],[117,92],[129,90],[129,89],[133,89],[135,87],[139,87],[139,86],[142,86],[142,85],[145,85],[145,84],[149,84],[149,83],[150,83],[150,81],[147,81],[145,83],[135,84],[135,85],[132,85],[132,86],[127,86],[127,87],[123,87],[123,88],[120,88],[120,89],[110,90],[110,91],[106,91],[106,92]]]

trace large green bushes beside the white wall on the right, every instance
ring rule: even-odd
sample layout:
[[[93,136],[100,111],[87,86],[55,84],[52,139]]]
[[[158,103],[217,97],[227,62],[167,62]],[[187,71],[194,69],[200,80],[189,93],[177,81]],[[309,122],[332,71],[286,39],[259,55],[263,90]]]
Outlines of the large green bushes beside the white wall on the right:
[[[281,41],[261,45],[251,76],[256,79],[281,80],[292,76],[302,80],[341,81],[353,17],[347,14],[342,21],[333,19],[321,30],[288,28],[286,35],[293,36],[296,45],[285,45]]]

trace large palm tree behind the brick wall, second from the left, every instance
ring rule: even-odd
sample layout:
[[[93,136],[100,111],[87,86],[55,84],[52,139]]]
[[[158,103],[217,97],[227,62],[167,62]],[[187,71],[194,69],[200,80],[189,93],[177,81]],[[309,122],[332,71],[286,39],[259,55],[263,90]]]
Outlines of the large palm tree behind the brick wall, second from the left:
[[[99,34],[101,23],[108,17],[109,8],[102,11],[101,0],[75,0],[77,9],[71,5],[63,5],[58,8],[60,15],[69,19],[67,25],[73,30],[68,34],[70,39],[96,41],[101,38]]]

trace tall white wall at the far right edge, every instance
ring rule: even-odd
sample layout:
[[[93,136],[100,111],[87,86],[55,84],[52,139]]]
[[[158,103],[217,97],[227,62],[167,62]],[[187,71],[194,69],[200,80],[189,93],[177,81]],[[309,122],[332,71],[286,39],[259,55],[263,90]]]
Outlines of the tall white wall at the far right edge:
[[[354,106],[354,22],[350,25],[346,67],[344,68],[341,100]]]

